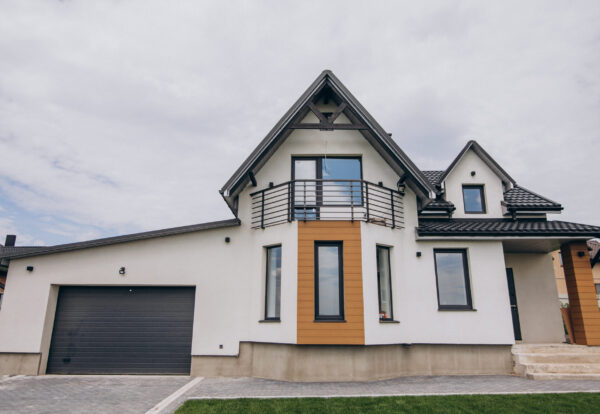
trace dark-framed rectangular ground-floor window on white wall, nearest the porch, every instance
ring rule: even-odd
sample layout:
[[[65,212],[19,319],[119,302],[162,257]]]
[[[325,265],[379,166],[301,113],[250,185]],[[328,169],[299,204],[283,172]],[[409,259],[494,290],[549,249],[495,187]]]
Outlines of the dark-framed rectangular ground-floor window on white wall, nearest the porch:
[[[467,251],[436,249],[433,252],[439,309],[472,309]]]

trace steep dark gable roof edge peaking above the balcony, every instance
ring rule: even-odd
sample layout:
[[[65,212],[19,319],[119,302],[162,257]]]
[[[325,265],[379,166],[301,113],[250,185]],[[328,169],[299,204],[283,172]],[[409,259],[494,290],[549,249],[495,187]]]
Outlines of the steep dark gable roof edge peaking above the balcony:
[[[365,126],[365,129],[360,132],[392,167],[396,167],[396,171],[400,170],[403,174],[406,174],[407,184],[413,190],[425,198],[433,196],[435,189],[421,170],[408,158],[333,72],[324,70],[221,188],[220,193],[234,214],[237,214],[235,195],[251,180],[250,174],[255,174],[274,154],[291,133],[288,127],[294,122],[299,122],[308,113],[308,104],[324,88],[330,88],[346,104],[344,114],[351,120],[354,119]]]

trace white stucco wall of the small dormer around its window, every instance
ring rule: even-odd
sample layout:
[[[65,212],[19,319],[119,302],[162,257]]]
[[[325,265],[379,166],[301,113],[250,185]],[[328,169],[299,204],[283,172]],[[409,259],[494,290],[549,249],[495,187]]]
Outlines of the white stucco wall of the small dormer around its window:
[[[475,171],[475,176],[471,176]],[[465,213],[462,195],[463,184],[482,184],[485,193],[485,214]],[[446,200],[454,203],[456,210],[454,218],[486,218],[502,217],[502,205],[504,199],[502,180],[479,158],[473,150],[467,151],[459,163],[448,174],[445,180]]]

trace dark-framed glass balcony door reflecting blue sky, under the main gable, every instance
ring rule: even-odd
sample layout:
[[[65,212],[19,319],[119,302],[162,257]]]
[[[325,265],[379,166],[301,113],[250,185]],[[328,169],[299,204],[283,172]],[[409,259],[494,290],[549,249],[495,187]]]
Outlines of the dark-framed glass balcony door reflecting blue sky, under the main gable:
[[[321,207],[362,205],[360,157],[294,157],[292,180],[298,219],[318,219]]]

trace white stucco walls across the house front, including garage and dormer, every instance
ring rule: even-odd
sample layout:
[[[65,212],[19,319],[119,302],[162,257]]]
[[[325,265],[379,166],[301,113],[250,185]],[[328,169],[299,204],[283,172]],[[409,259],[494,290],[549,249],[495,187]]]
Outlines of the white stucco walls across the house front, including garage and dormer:
[[[256,172],[258,186],[249,185],[240,194],[240,227],[13,260],[0,311],[0,353],[47,352],[41,344],[46,308],[53,306],[49,303],[53,285],[196,286],[193,355],[236,355],[240,341],[295,343],[297,224],[251,229],[249,194],[269,182],[290,180],[292,156],[325,154],[361,155],[365,180],[395,188],[398,176],[358,131],[296,130]],[[454,187],[460,196],[449,199],[462,212],[462,182],[483,183],[488,215],[499,216],[500,181],[471,155],[448,177],[448,196]],[[473,169],[475,179],[470,176]],[[402,230],[362,223],[366,343],[512,343],[501,243],[418,242],[416,197],[410,189],[404,207]],[[226,236],[231,243],[224,242]],[[281,322],[260,323],[264,317],[264,246],[274,244],[282,245]],[[400,324],[379,323],[377,244],[392,247],[394,317]],[[438,311],[436,247],[468,250],[475,311]],[[422,252],[420,258],[417,251]],[[28,265],[35,267],[34,272],[25,271]],[[125,277],[118,274],[121,266],[127,268]],[[219,349],[221,344],[223,349]]]

